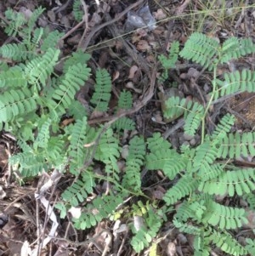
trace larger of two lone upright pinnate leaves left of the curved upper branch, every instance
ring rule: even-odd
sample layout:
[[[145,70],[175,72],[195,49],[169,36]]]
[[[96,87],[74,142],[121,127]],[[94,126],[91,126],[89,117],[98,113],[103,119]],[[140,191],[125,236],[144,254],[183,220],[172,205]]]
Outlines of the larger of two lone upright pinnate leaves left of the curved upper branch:
[[[107,111],[111,98],[111,77],[105,70],[97,70],[95,91],[91,103],[95,105],[97,111]]]

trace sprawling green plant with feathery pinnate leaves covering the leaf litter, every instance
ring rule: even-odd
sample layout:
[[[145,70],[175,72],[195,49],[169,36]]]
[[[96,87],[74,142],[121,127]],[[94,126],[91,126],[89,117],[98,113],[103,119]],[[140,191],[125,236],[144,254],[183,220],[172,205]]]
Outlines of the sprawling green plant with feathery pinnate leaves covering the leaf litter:
[[[164,112],[166,117],[173,117],[184,110],[184,132],[195,134],[201,128],[201,144],[195,148],[182,146],[177,151],[159,133],[150,138],[136,135],[128,143],[127,157],[122,159],[119,134],[123,129],[133,130],[133,120],[122,117],[109,127],[88,124],[88,109],[108,110],[109,73],[101,69],[96,72],[94,94],[89,108],[84,107],[75,95],[91,74],[89,55],[74,52],[65,58],[63,71],[57,74],[54,67],[61,60],[58,41],[62,35],[35,26],[42,11],[37,9],[27,20],[8,9],[5,32],[22,40],[0,48],[0,127],[17,139],[20,152],[9,162],[18,166],[16,172],[22,179],[53,169],[72,174],[73,183],[55,205],[60,217],[65,218],[70,208],[81,207],[80,217],[72,219],[77,230],[89,229],[102,219],[142,219],[139,228],[130,223],[131,245],[136,252],[150,247],[150,255],[156,255],[160,230],[168,219],[181,232],[194,236],[194,255],[209,255],[213,247],[229,255],[255,255],[252,239],[246,239],[244,245],[233,235],[233,230],[247,223],[246,209],[217,201],[218,195],[235,196],[235,202],[246,200],[248,209],[254,209],[254,169],[236,167],[229,160],[255,156],[255,134],[231,133],[235,117],[229,114],[222,117],[212,134],[206,133],[205,125],[214,100],[246,90],[255,92],[253,71],[217,76],[218,65],[255,52],[252,40],[231,37],[220,44],[194,33],[179,53],[175,43],[168,57],[161,56],[161,65],[166,70],[180,56],[212,71],[212,93],[206,107],[174,97],[167,100]],[[132,105],[132,94],[123,91],[116,111],[130,109]],[[60,125],[64,117],[73,118],[73,122]],[[119,168],[120,160],[125,172]],[[103,175],[94,173],[98,164],[104,168]],[[144,195],[142,168],[151,173],[160,169],[171,181],[161,202]],[[102,179],[108,181],[111,190],[88,202],[88,196]],[[139,196],[140,200],[130,203],[126,201],[130,196]]]

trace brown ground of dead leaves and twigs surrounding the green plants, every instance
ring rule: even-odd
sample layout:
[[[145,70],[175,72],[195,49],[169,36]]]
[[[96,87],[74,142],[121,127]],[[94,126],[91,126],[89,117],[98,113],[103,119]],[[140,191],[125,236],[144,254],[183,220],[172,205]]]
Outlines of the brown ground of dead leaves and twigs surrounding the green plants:
[[[89,65],[94,73],[98,67],[109,71],[112,79],[110,110],[106,115],[94,112],[90,117],[90,120],[94,121],[90,123],[109,122],[116,117],[111,106],[112,109],[116,106],[120,91],[127,89],[132,93],[134,101],[138,102],[141,99],[140,105],[129,114],[129,117],[133,118],[136,123],[137,134],[142,134],[146,138],[154,132],[159,132],[171,141],[175,149],[179,149],[183,144],[198,145],[201,140],[200,133],[192,137],[186,136],[182,117],[167,120],[163,117],[162,111],[165,107],[164,101],[169,95],[181,95],[181,97],[195,99],[203,104],[207,100],[207,94],[212,90],[210,82],[212,73],[202,70],[199,65],[178,60],[177,65],[168,72],[167,80],[157,82],[154,91],[150,92],[150,99],[146,100],[145,96],[150,90],[150,82],[156,81],[156,78],[161,77],[163,72],[158,65],[158,56],[167,55],[174,41],[178,41],[183,47],[190,34],[195,31],[215,38],[220,43],[232,36],[250,37],[255,43],[253,1],[149,0],[147,3],[142,0],[105,0],[99,1],[98,5],[96,0],[82,0],[81,3],[85,14],[82,14],[80,21],[74,17],[71,0],[20,0],[17,3],[14,0],[4,1],[0,3],[0,19],[3,25],[4,12],[8,8],[22,12],[29,17],[34,9],[42,6],[44,11],[40,20],[37,21],[37,26],[48,26],[49,31],[63,32],[63,37],[59,42],[63,56],[68,56],[77,48],[82,48],[83,51],[92,55]],[[149,20],[152,19],[153,25],[148,25],[141,9],[144,10]],[[3,27],[0,28],[0,35],[1,46],[13,40],[4,33]],[[241,67],[253,71],[254,56],[249,55],[238,62],[223,65],[218,70],[218,74]],[[88,83],[92,86],[94,77],[91,77]],[[243,93],[234,97],[229,96],[223,104],[216,105],[210,111],[212,122],[217,122],[218,117],[230,112],[237,118],[236,130],[252,131],[255,125],[254,95],[254,93]],[[85,87],[81,88],[77,92],[77,99],[86,105],[87,98],[88,90]],[[68,122],[72,120],[64,121],[63,125],[68,125]],[[212,131],[211,122],[208,122],[206,129],[208,133]],[[123,145],[128,141],[129,136],[130,134],[123,136]],[[39,178],[26,180],[26,184],[21,186],[17,182],[17,176],[9,174],[8,157],[14,154],[15,150],[19,149],[15,146],[14,138],[3,131],[0,139],[0,174],[2,176],[0,181],[0,255],[20,255],[21,247],[26,247],[25,241],[36,242],[38,222],[41,225],[45,223],[45,211],[37,207],[38,202],[34,198]],[[255,162],[250,160],[237,159],[236,162],[242,167],[254,168]],[[148,177],[144,170],[142,175],[143,190],[146,191],[146,195],[160,200],[165,192],[166,185],[163,183],[167,182],[166,179],[161,179],[163,174],[159,171]],[[8,186],[5,186],[7,183]],[[104,185],[99,184],[97,192],[104,190],[102,188]],[[61,181],[58,188],[55,188],[56,193],[60,194],[65,186],[65,182]],[[52,202],[58,200],[57,196],[53,196]],[[228,199],[225,201],[228,204]],[[40,255],[103,255],[102,253],[105,253],[107,232],[102,232],[102,230],[112,230],[112,223],[102,221],[96,228],[86,231],[77,231],[71,227],[69,232],[76,233],[77,242],[68,239],[71,234],[65,234],[67,225],[71,225],[69,219],[60,220],[58,216],[58,221],[60,228],[57,235],[62,240],[51,242],[48,247],[42,249]],[[166,234],[166,230],[169,230],[171,226],[171,221],[167,221],[161,234]],[[240,229],[235,232],[236,237],[242,238],[242,232],[245,230]],[[88,237],[93,237],[93,239],[88,243],[82,243]],[[173,230],[161,242],[161,247],[158,248],[159,253],[168,256],[192,255],[190,240],[192,240],[190,236]],[[104,255],[139,255],[133,253],[127,241],[127,236],[118,237],[118,241],[115,241],[111,248],[112,251]],[[27,254],[23,252],[22,255]],[[146,255],[146,252],[143,255]],[[223,254],[215,253],[214,255]]]

